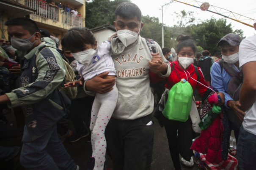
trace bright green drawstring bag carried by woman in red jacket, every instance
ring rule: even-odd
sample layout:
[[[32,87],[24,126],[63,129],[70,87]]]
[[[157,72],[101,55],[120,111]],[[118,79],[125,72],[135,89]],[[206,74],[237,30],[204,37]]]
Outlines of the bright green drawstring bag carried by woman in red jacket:
[[[189,82],[182,79],[173,85],[162,114],[169,120],[186,122],[190,113],[193,89]]]

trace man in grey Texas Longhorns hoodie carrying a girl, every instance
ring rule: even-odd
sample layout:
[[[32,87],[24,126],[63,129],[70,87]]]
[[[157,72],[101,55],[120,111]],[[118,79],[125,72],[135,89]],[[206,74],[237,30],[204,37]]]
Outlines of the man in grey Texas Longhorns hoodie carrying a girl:
[[[114,25],[117,36],[111,39],[111,56],[116,68],[118,102],[106,128],[107,149],[114,170],[149,170],[154,139],[151,121],[154,97],[149,71],[168,77],[171,68],[160,46],[151,44],[157,52],[152,58],[146,39],[140,37],[143,23],[137,5],[119,4]],[[104,79],[107,74],[87,80],[85,90],[96,93],[112,90],[115,79]]]

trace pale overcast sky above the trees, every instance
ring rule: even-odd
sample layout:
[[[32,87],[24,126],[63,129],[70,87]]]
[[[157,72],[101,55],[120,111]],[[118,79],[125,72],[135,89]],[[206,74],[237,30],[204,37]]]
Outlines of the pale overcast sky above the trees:
[[[132,0],[132,3],[135,3],[140,8],[142,15],[146,16],[154,16],[160,19],[162,22],[162,5],[171,2],[170,0]],[[186,2],[193,2],[193,0],[186,0]],[[206,0],[201,2],[208,2],[210,5],[214,5],[220,8],[224,8],[226,10],[239,13],[241,15],[247,16],[252,19],[256,19],[256,0]],[[167,26],[172,26],[177,23],[176,14],[174,12],[180,12],[182,10],[185,11],[194,11],[194,16],[196,19],[201,19],[204,21],[206,19],[210,19],[214,17],[216,19],[223,18],[223,16],[208,12],[201,11],[198,8],[185,5],[178,2],[173,2],[170,5],[166,5],[163,8],[164,12],[164,24]],[[195,24],[200,23],[200,21],[195,22]],[[241,24],[237,21],[233,21],[231,19],[227,19],[227,23],[231,23],[233,30],[242,29],[244,31],[244,35],[246,37],[250,37],[252,35],[256,35],[256,31],[252,27],[248,27],[244,24]],[[251,23],[252,25],[253,23]]]

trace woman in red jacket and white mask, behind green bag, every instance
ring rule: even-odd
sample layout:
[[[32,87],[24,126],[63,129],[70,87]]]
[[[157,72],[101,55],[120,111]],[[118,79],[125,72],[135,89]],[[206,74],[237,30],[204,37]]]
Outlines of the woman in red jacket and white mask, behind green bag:
[[[190,83],[193,90],[197,89],[200,96],[203,96],[206,91],[206,87],[204,86],[206,85],[204,82],[204,75],[201,72],[201,69],[198,68],[198,72],[201,76],[199,82],[201,82],[201,84],[195,81],[198,80],[198,77],[192,64],[196,52],[196,46],[189,36],[179,35],[177,37],[177,41],[179,42],[177,45],[178,60],[170,63],[171,67],[174,68],[172,68],[172,72],[167,78],[165,88],[171,89],[173,85],[184,78]],[[158,80],[160,80],[160,78],[158,78]],[[182,164],[186,166],[193,166],[193,151],[190,150],[193,139],[193,129],[190,117],[186,122],[168,120],[164,117],[163,123],[165,125],[165,131],[175,170],[181,170],[179,154],[182,156]],[[177,130],[179,135],[177,134]]]

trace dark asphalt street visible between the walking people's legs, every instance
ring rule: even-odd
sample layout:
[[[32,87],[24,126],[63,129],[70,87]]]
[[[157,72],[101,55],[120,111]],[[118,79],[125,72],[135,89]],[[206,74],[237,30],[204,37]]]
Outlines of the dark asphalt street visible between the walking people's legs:
[[[153,117],[154,121],[154,149],[151,163],[151,170],[174,170],[169,152],[168,141],[166,138],[165,129],[161,128],[157,119]],[[80,166],[80,170],[85,170],[85,167],[91,157],[91,142],[85,142],[85,139],[80,139],[74,143],[64,143],[66,150],[71,155],[74,162]],[[106,155],[107,168],[112,168],[112,162],[108,155]],[[193,167],[185,167],[182,165],[182,170],[199,170],[200,168],[195,164]]]

